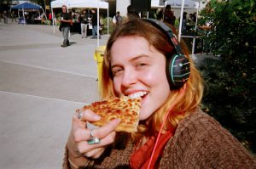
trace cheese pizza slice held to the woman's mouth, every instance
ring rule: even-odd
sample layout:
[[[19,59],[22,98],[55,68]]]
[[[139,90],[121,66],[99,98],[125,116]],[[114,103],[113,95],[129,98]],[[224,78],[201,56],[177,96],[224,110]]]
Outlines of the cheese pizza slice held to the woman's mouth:
[[[140,97],[131,99],[127,96],[122,96],[120,98],[106,99],[102,102],[84,105],[81,110],[90,109],[102,117],[100,121],[90,122],[93,125],[102,127],[109,121],[118,118],[120,122],[115,131],[137,132],[141,101],[142,99]]]

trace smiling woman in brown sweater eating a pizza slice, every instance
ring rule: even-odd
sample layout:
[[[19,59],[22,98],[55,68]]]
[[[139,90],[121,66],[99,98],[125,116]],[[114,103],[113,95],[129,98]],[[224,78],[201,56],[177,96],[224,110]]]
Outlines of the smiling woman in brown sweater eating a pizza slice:
[[[118,119],[90,130],[84,121],[100,117],[90,110],[75,114],[63,168],[255,168],[236,138],[200,110],[203,81],[192,62],[184,73],[189,79],[175,82],[169,63],[186,59],[171,30],[157,24],[137,19],[120,25],[102,68],[102,98],[143,99],[138,132],[114,132]],[[88,144],[91,136],[100,143]]]

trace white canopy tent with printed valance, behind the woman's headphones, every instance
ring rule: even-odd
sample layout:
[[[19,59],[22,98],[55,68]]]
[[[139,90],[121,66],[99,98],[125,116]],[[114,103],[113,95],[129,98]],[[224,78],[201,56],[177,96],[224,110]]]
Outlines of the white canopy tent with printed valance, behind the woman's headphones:
[[[200,2],[201,0],[151,0],[151,8],[163,8],[167,4],[170,4],[172,8],[180,8],[180,20],[179,20],[179,31],[178,31],[178,41],[180,41],[180,38],[183,37],[181,35],[182,32],[182,20],[183,20],[183,10],[184,8],[196,8],[196,22],[195,22],[195,29],[197,26],[197,17],[198,17],[198,10],[200,8]],[[194,54],[195,50],[195,37],[193,38],[193,45],[192,45],[192,54]]]

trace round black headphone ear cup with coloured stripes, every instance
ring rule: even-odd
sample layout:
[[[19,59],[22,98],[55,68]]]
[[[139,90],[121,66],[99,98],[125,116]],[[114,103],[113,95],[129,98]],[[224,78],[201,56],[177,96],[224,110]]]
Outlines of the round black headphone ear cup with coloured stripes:
[[[182,87],[189,80],[190,64],[183,54],[176,54],[167,60],[166,74],[170,87]]]

